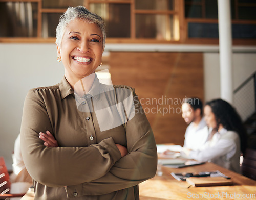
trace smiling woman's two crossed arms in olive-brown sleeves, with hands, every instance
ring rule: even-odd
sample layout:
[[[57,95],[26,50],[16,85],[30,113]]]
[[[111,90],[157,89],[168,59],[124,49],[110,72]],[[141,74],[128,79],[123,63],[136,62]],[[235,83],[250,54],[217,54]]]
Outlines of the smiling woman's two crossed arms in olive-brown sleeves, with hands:
[[[42,98],[42,92],[45,90],[29,92],[21,128],[24,161],[35,181],[49,187],[67,186],[68,192],[82,188],[81,195],[102,195],[135,186],[155,175],[156,145],[144,113],[137,113],[125,124],[128,149],[115,144],[111,137],[88,147],[58,147],[60,141],[51,134],[54,127],[49,115],[55,111],[52,99]],[[137,109],[140,104],[135,98]],[[68,104],[69,98],[64,103]],[[40,132],[44,130],[48,131]],[[70,172],[70,168],[76,170]]]

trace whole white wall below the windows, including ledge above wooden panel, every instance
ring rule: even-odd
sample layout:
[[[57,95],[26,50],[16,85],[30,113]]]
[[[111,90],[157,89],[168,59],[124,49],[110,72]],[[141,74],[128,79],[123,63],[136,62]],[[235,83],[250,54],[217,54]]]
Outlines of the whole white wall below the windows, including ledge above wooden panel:
[[[247,47],[246,47],[247,48]],[[239,51],[244,48],[237,48]],[[249,47],[250,49],[250,47]],[[105,51],[205,52],[205,99],[220,97],[218,46],[205,45],[106,45]],[[255,47],[250,52],[255,52]],[[254,53],[234,54],[234,87],[256,70]],[[25,96],[29,89],[59,83],[64,75],[57,62],[55,44],[0,43],[0,156],[12,169],[11,153],[20,130]]]

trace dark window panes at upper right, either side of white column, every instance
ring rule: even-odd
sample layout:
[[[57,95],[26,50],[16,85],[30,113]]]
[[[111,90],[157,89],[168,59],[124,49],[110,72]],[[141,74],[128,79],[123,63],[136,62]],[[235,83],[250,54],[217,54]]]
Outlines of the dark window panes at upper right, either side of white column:
[[[231,0],[232,38],[256,39],[256,1]],[[218,0],[185,0],[187,38],[219,38]]]

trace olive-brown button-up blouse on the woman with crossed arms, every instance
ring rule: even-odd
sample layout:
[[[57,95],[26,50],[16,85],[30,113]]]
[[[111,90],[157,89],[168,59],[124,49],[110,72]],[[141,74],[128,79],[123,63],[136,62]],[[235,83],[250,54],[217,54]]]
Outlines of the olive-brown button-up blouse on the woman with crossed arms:
[[[50,131],[59,147],[46,147]],[[154,135],[135,90],[101,84],[78,96],[65,77],[31,89],[24,103],[20,142],[35,200],[139,199],[138,184],[155,176]],[[126,146],[121,157],[115,144]]]

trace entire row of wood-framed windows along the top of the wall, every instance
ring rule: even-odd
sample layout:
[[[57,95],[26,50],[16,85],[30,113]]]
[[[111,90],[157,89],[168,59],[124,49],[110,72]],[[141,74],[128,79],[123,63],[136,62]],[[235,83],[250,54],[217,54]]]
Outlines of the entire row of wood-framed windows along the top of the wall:
[[[230,1],[233,38],[255,44],[256,1]],[[78,5],[103,18],[107,42],[218,44],[218,0],[0,0],[0,42],[54,42]]]

